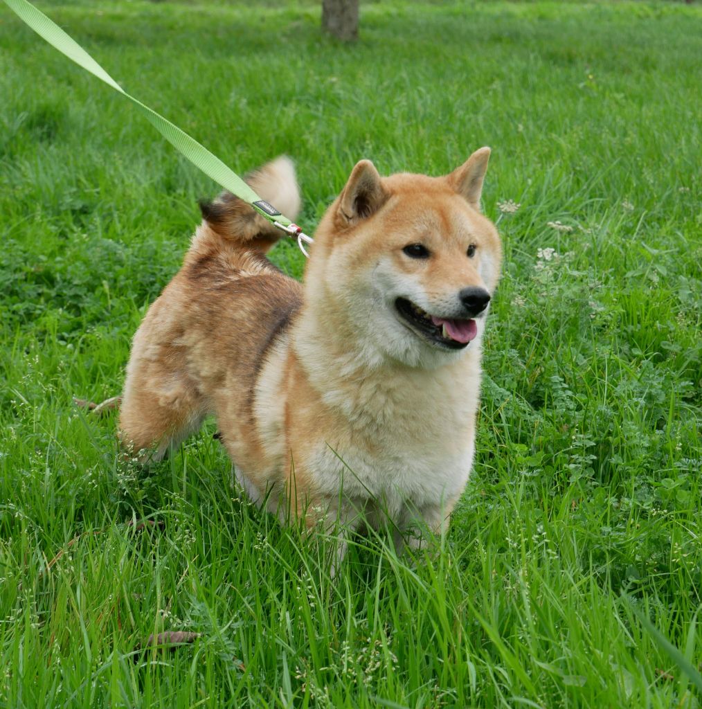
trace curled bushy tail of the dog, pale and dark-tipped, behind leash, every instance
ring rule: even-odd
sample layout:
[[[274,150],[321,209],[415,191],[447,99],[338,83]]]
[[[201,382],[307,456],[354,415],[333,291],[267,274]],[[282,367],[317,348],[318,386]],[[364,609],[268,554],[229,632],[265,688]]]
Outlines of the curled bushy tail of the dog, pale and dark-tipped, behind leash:
[[[287,218],[294,220],[297,217],[300,191],[289,157],[281,155],[267,162],[247,174],[245,182]],[[230,192],[223,192],[212,202],[201,201],[200,209],[203,223],[194,239],[196,250],[233,246],[265,253],[283,235],[249,203]]]

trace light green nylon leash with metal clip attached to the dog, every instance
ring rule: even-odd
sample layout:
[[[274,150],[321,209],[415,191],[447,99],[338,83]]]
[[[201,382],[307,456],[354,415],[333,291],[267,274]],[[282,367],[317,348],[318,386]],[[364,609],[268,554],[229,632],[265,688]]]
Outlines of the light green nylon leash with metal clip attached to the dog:
[[[311,244],[312,239],[302,233],[302,229],[283,216],[272,204],[258,196],[250,186],[248,186],[238,174],[228,168],[216,155],[213,155],[206,147],[200,145],[197,140],[191,138],[187,133],[167,121],[156,111],[145,106],[141,101],[130,96],[106,71],[103,69],[88,52],[86,52],[75,40],[70,38],[56,23],[52,22],[43,12],[35,8],[28,0],[4,0],[5,4],[18,17],[28,24],[41,38],[45,39],[53,48],[66,55],[69,60],[75,62],[87,72],[98,77],[101,81],[118,91],[126,99],[129,99],[146,116],[148,121],[158,130],[159,133],[176,150],[179,150],[195,167],[199,167],[208,177],[221,184],[224,189],[228,189],[239,199],[248,202],[258,213],[264,216],[274,226],[284,231],[287,235],[297,238],[298,244],[304,255],[308,255],[302,242]]]

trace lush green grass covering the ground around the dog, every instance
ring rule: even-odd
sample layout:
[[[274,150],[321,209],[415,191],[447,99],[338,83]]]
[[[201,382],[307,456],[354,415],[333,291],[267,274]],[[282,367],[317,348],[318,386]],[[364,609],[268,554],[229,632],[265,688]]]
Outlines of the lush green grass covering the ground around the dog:
[[[41,4],[234,169],[292,155],[309,229],[361,157],[494,148],[474,474],[440,552],[360,539],[330,581],[212,423],[120,462],[72,396],[121,389],[217,188],[0,9],[0,704],[698,707],[700,7],[388,1],[345,47],[316,3],[255,5]],[[135,652],[162,630],[201,637]]]

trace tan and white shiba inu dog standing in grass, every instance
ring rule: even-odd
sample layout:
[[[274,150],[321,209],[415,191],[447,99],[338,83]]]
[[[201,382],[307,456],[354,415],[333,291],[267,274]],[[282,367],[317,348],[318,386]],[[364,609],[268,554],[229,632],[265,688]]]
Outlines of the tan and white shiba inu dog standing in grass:
[[[303,284],[264,253],[279,232],[225,193],[133,341],[121,438],[161,457],[216,415],[252,500],[308,525],[439,532],[474,457],[481,339],[501,262],[479,208],[489,148],[445,177],[353,169]],[[294,218],[294,169],[247,178]],[[412,545],[418,537],[410,538]]]

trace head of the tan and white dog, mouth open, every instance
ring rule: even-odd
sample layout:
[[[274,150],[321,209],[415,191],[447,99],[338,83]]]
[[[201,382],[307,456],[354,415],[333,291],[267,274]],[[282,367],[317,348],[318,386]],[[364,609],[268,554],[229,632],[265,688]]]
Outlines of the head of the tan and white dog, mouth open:
[[[501,244],[479,211],[490,150],[445,177],[353,169],[315,235],[308,298],[373,357],[436,367],[477,346]],[[351,343],[350,343],[351,345]]]

